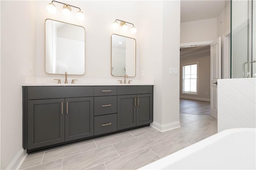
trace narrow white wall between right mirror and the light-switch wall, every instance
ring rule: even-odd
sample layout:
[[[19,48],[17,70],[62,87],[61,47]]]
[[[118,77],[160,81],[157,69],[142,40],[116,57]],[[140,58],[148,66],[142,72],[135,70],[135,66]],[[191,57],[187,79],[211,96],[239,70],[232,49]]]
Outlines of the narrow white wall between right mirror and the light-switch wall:
[[[162,22],[163,4],[158,1],[140,4],[140,77],[154,78],[154,122],[162,123]],[[142,76],[144,72],[144,76]]]

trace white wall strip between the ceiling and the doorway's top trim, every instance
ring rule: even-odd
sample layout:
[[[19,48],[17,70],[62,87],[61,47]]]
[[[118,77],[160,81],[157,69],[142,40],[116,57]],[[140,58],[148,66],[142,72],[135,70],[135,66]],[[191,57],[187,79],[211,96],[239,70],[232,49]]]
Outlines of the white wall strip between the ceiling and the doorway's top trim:
[[[180,23],[180,43],[204,42],[217,38],[217,18]]]

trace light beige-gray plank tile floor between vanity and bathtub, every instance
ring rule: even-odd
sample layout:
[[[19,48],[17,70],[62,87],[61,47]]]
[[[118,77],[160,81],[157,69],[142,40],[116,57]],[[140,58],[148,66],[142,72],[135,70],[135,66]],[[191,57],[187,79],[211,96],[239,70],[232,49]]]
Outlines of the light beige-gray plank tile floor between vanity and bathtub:
[[[209,115],[180,114],[181,127],[159,132],[143,127],[30,154],[20,169],[138,169],[217,133]]]

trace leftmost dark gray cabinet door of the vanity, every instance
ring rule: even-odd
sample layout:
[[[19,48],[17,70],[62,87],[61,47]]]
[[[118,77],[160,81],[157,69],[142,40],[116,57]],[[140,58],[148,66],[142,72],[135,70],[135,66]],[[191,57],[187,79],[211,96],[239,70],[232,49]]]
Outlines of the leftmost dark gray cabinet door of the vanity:
[[[28,149],[64,142],[64,99],[28,101]]]

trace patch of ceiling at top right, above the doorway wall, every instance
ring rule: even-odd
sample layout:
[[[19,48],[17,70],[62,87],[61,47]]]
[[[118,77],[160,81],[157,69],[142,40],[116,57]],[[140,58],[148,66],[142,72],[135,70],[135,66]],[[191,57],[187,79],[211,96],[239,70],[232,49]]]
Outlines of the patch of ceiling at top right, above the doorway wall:
[[[180,22],[217,18],[230,0],[181,0]]]

